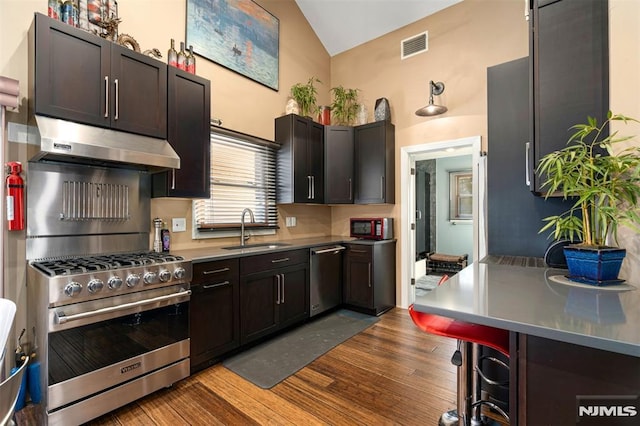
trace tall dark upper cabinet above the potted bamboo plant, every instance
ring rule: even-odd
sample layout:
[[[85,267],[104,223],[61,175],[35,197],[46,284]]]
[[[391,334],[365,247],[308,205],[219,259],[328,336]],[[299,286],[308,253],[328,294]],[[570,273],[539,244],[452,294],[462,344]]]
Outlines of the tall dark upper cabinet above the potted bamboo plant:
[[[530,0],[529,58],[532,127],[527,184],[541,193],[535,168],[566,146],[571,126],[587,117],[602,122],[609,109],[608,1]],[[525,141],[523,141],[525,143]]]

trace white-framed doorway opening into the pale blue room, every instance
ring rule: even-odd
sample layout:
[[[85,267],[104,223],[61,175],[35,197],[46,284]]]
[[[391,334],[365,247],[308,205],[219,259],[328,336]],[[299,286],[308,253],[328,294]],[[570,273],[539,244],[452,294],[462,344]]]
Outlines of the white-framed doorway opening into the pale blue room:
[[[433,270],[427,266],[434,265],[430,254],[446,253],[452,261],[466,255],[467,263],[486,255],[486,157],[480,142],[474,136],[401,149],[402,307],[415,300],[418,278],[425,288],[437,284],[439,276],[425,276]]]

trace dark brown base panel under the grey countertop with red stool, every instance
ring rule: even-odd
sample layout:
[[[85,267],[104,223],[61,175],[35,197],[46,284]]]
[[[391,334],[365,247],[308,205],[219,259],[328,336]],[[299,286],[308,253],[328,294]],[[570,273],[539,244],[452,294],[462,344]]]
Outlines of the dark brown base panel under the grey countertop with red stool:
[[[511,424],[637,424],[637,414],[629,417],[616,407],[638,407],[640,358],[525,334],[517,341],[518,386],[510,403],[517,413],[512,410]],[[591,417],[580,415],[580,405],[614,411]]]

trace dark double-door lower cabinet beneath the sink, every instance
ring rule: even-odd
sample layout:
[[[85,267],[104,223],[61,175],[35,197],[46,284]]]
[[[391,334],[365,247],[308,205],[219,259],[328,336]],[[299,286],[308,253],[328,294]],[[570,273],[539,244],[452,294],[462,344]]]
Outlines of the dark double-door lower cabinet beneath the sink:
[[[309,317],[309,251],[240,259],[240,341],[268,336]]]

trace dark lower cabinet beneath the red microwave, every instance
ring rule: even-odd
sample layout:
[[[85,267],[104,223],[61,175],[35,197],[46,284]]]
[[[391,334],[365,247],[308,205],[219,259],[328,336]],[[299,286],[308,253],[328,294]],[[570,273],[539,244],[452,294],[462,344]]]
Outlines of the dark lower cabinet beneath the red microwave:
[[[396,242],[345,244],[344,302],[354,310],[380,315],[396,304]]]

